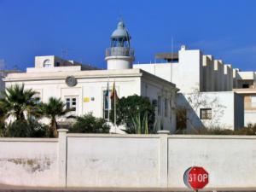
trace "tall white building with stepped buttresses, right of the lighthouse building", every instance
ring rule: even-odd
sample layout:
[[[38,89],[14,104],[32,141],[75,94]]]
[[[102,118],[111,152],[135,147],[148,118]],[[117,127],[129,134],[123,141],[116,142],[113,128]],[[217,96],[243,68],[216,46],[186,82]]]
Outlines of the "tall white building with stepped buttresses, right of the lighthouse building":
[[[220,127],[238,129],[244,125],[242,96],[233,92],[233,69],[199,49],[159,54],[166,63],[137,64],[148,73],[177,85],[177,128]],[[185,122],[180,125],[180,122]]]

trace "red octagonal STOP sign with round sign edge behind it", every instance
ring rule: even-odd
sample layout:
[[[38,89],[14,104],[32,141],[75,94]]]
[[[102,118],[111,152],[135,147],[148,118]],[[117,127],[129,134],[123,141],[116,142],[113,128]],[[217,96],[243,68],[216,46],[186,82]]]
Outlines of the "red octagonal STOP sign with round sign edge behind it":
[[[203,189],[209,182],[209,174],[201,166],[192,166],[184,172],[183,180],[190,189]]]

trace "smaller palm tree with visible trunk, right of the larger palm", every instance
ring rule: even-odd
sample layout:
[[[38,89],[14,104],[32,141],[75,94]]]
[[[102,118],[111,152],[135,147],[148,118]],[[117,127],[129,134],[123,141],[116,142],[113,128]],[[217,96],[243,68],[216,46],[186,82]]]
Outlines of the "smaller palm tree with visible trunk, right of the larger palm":
[[[65,115],[70,109],[66,109],[66,104],[61,99],[49,98],[49,102],[42,103],[41,110],[45,117],[50,119],[49,129],[54,137],[57,137],[57,118]]]

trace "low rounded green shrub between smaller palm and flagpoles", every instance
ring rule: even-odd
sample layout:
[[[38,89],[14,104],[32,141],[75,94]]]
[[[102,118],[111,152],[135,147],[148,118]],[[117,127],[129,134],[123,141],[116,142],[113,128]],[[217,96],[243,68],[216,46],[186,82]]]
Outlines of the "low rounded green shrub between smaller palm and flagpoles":
[[[88,113],[78,117],[69,131],[73,133],[109,133],[109,129],[105,119],[96,118],[92,113]]]

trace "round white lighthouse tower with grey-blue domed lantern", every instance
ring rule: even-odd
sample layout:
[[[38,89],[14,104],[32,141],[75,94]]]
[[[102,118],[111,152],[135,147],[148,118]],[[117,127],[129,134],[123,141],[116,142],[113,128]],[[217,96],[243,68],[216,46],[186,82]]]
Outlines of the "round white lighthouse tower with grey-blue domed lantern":
[[[111,47],[106,49],[108,69],[132,68],[134,50],[130,48],[131,36],[125,28],[123,21],[119,21],[117,29],[111,35]]]

